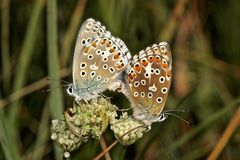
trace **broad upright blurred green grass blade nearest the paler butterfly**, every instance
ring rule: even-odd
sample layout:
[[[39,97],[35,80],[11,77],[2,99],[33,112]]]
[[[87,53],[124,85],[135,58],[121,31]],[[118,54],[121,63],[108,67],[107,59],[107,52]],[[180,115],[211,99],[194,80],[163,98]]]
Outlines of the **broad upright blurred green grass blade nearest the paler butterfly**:
[[[59,79],[59,59],[57,49],[57,4],[56,0],[47,1],[47,41],[48,41],[48,72],[49,77]],[[53,118],[59,118],[63,113],[63,101],[59,81],[50,85],[49,109]],[[54,89],[53,89],[54,88]],[[55,158],[61,159],[61,150],[55,145]]]

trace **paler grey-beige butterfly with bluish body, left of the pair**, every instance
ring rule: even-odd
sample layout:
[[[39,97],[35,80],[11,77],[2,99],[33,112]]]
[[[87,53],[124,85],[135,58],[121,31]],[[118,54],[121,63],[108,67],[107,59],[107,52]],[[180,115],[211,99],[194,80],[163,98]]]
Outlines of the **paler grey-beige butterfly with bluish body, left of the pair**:
[[[99,96],[106,89],[122,86],[122,74],[131,54],[124,42],[111,35],[100,22],[89,18],[81,26],[73,57],[73,83],[67,93],[79,103]]]

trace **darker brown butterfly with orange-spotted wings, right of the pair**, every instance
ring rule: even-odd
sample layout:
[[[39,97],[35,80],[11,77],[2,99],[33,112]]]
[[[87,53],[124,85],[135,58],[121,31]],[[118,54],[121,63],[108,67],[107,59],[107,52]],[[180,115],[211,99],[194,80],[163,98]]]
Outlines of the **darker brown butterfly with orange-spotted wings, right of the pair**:
[[[150,125],[166,119],[163,108],[172,80],[172,55],[167,42],[147,47],[134,55],[125,75],[125,94],[133,117]]]

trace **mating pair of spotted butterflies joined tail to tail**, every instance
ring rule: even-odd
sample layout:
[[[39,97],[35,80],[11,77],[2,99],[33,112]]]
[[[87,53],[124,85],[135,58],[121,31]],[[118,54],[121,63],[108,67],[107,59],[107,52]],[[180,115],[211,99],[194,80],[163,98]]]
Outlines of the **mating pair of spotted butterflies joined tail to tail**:
[[[133,116],[146,124],[162,121],[171,85],[172,55],[166,42],[131,58],[124,42],[90,18],[80,28],[73,58],[73,84],[67,88],[76,102],[96,98],[106,89],[122,88]],[[124,88],[124,89],[123,89]]]

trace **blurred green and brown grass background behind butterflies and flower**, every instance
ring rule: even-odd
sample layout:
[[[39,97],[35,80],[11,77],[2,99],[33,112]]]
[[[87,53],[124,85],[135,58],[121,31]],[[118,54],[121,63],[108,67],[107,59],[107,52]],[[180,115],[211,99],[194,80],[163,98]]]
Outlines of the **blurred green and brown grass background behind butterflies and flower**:
[[[1,0],[0,5],[0,159],[62,159],[49,127],[72,98],[59,81],[46,77],[72,81],[77,32],[90,17],[120,37],[132,55],[153,43],[170,44],[174,66],[166,108],[188,110],[177,115],[195,124],[169,117],[137,143],[117,144],[111,159],[239,159],[240,1]],[[129,107],[123,95],[105,94],[119,108]],[[115,140],[109,129],[103,137],[107,146]],[[90,141],[71,155],[92,159],[102,150]]]

